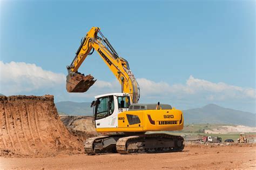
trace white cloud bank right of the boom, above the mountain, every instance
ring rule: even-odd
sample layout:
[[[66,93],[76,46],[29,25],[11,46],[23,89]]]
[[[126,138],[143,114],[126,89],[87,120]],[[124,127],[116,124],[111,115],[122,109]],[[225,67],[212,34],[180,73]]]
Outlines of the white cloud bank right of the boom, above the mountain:
[[[206,100],[226,100],[226,99],[255,99],[255,89],[242,88],[225,83],[212,83],[203,79],[196,79],[190,76],[186,84],[169,85],[165,82],[154,82],[145,78],[139,78],[138,83],[143,95],[146,96],[173,96],[201,97]]]

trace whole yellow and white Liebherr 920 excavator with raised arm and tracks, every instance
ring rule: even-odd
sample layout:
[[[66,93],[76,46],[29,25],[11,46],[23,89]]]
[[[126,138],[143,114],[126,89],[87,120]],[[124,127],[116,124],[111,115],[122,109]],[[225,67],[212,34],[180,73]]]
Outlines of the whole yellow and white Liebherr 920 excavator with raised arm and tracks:
[[[120,57],[109,40],[92,27],[67,66],[66,90],[86,92],[96,80],[78,69],[85,58],[97,51],[100,58],[121,84],[121,92],[102,94],[92,101],[97,132],[110,133],[86,139],[84,151],[89,155],[99,153],[158,153],[178,152],[184,148],[184,138],[179,135],[152,133],[153,131],[180,131],[184,117],[180,110],[169,104],[139,104],[140,88],[130,70],[129,63]],[[115,132],[116,134],[111,134]],[[149,133],[146,133],[149,132]]]

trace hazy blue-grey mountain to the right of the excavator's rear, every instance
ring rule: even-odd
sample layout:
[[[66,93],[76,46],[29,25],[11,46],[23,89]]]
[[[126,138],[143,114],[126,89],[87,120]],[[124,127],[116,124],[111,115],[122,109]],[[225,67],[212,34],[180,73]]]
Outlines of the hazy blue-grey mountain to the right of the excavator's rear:
[[[183,111],[185,124],[234,124],[256,126],[256,114],[208,104],[201,108]]]

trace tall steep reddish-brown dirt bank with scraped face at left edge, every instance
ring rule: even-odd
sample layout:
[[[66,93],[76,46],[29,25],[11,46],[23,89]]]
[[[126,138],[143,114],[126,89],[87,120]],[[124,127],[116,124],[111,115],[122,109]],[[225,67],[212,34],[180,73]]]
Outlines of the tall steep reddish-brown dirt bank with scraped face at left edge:
[[[83,153],[59,118],[53,96],[0,96],[0,156]]]

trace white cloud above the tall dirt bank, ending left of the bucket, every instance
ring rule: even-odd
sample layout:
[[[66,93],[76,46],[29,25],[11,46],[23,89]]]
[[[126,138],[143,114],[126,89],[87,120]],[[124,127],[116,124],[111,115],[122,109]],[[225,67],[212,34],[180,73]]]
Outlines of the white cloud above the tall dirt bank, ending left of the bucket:
[[[8,95],[51,89],[65,83],[65,79],[64,74],[43,70],[35,64],[0,61],[0,91]]]

